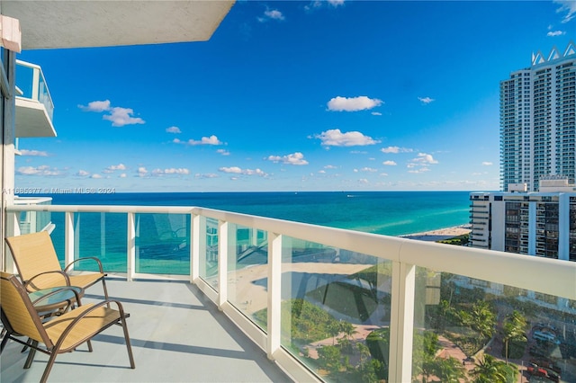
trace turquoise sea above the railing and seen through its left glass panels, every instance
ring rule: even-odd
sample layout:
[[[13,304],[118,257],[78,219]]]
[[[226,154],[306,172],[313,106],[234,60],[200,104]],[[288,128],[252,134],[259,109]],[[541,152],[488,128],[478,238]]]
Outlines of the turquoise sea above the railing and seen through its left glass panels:
[[[50,197],[54,205],[197,206],[388,236],[459,226],[469,219],[468,191],[116,193]],[[51,213],[50,218],[56,225],[52,241],[64,263],[64,213]],[[125,213],[76,213],[73,224],[76,257],[96,256],[106,272],[126,272]],[[136,226],[135,272],[184,275],[189,272],[188,216],[137,214]],[[210,227],[216,230],[216,222]],[[242,236],[243,232],[238,231],[238,241]],[[208,245],[214,248],[214,244]],[[215,255],[206,256],[210,259]],[[76,268],[94,270],[88,264]]]

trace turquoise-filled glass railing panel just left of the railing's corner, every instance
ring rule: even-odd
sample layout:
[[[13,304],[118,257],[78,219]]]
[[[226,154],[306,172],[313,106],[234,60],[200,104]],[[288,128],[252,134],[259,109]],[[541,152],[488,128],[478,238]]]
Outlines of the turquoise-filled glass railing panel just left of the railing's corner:
[[[135,224],[135,272],[190,274],[188,214],[140,213]]]

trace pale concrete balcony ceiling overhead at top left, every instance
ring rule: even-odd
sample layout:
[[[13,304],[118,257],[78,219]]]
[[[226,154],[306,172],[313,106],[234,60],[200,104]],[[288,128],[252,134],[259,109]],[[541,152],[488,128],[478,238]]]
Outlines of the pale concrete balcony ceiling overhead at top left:
[[[4,1],[20,20],[23,49],[55,49],[205,41],[234,0]]]

